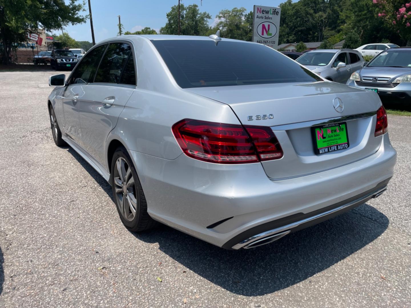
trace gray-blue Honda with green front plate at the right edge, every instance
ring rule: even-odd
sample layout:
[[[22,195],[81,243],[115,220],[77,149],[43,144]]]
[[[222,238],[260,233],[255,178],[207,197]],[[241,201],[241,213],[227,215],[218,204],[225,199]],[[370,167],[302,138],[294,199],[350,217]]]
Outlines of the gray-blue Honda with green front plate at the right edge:
[[[383,51],[351,75],[347,85],[377,92],[381,98],[411,103],[411,48]]]

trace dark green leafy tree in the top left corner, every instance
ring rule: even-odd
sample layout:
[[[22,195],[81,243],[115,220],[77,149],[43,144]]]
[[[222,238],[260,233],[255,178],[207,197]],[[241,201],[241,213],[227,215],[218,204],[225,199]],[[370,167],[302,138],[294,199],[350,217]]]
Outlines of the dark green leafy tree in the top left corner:
[[[67,2],[67,4],[66,4]],[[27,41],[27,33],[62,29],[64,26],[84,23],[88,16],[81,15],[83,3],[77,0],[1,0],[0,39],[2,62],[7,64],[14,44]]]

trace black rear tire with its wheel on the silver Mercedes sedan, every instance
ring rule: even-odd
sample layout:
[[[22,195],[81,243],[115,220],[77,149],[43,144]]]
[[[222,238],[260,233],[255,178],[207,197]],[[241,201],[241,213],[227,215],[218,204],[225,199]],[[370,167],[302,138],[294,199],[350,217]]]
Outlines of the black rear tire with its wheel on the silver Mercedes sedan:
[[[132,178],[130,177],[130,175],[128,178],[127,176],[123,175],[124,179],[121,179],[119,176],[117,176],[120,172],[117,168],[118,160],[120,161],[120,164],[122,161],[125,162],[125,174],[129,174],[127,171],[130,170],[131,176],[134,179],[134,184],[130,185],[128,188],[127,183]],[[120,167],[120,169],[122,169],[122,167]],[[157,221],[153,220],[147,212],[147,201],[145,200],[143,188],[141,187],[139,177],[137,176],[136,168],[134,168],[132,160],[130,159],[129,154],[127,153],[127,150],[124,147],[119,147],[114,152],[113,159],[111,160],[110,184],[113,188],[114,202],[117,207],[118,215],[120,216],[122,223],[128,230],[132,232],[141,232],[151,229],[158,224]],[[128,195],[129,198],[127,198],[126,195]],[[122,198],[120,198],[120,196],[122,196]],[[129,205],[128,208],[127,205],[123,207],[122,200],[125,200],[126,204]],[[132,208],[134,209],[134,207],[135,214],[133,216]],[[123,212],[125,214],[123,214]]]

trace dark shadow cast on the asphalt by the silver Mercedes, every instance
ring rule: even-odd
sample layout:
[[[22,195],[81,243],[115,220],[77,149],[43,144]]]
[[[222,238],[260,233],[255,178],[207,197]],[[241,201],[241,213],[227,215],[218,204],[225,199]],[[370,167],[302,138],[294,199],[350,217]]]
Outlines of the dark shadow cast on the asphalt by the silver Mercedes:
[[[110,184],[71,147],[67,151],[113,200]],[[140,241],[158,243],[160,251],[186,269],[229,292],[258,296],[307,279],[310,283],[310,277],[377,239],[388,224],[384,214],[363,204],[274,243],[240,251],[219,248],[166,225],[132,234]]]

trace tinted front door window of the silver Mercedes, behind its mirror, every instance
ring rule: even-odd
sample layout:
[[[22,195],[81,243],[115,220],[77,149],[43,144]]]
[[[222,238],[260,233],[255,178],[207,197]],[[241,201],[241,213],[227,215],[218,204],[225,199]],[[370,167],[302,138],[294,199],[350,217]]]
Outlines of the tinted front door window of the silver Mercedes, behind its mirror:
[[[102,45],[94,48],[81,59],[81,62],[76,67],[72,75],[71,83],[91,83],[93,82],[96,73],[97,65],[106,50],[107,45]]]

